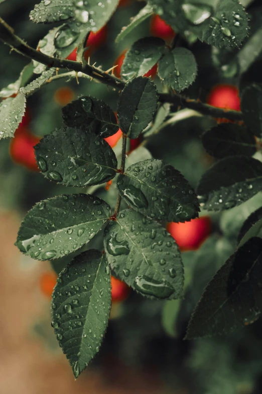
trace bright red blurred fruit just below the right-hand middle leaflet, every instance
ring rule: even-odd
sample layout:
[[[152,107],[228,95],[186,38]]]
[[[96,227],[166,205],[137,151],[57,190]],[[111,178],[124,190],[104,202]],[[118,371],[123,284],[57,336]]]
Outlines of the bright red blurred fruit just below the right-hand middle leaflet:
[[[206,240],[211,232],[211,219],[209,216],[201,216],[185,223],[171,222],[167,230],[176,240],[180,250],[195,250]]]

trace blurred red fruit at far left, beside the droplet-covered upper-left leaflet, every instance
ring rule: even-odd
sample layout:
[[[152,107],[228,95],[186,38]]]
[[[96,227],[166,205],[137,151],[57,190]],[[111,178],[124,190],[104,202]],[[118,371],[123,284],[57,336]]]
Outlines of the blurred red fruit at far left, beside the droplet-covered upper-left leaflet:
[[[25,128],[17,130],[10,143],[10,155],[14,162],[30,171],[39,171],[33,148],[39,141],[40,137],[33,135],[30,130]]]

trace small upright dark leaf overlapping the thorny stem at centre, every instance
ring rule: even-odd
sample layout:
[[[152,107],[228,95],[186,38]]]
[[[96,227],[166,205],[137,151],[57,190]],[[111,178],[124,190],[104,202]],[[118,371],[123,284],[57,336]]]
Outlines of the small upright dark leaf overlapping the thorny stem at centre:
[[[117,107],[122,132],[129,138],[138,138],[153,120],[157,102],[157,89],[149,78],[138,76],[128,82],[121,92]]]

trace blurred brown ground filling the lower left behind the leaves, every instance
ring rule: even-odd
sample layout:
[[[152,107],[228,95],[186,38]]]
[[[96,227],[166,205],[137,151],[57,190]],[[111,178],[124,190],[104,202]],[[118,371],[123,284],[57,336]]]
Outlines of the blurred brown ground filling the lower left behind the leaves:
[[[49,303],[39,290],[48,268],[14,246],[20,221],[13,212],[0,212],[0,394],[166,393],[155,371],[149,375],[114,362],[110,370],[89,369],[75,381],[61,350],[51,351],[34,333],[41,319],[50,327]]]

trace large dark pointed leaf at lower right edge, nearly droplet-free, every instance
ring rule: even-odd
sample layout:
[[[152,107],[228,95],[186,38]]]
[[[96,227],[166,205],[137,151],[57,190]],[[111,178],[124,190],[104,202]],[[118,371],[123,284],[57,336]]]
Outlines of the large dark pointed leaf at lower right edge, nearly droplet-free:
[[[191,317],[186,339],[225,334],[253,323],[261,313],[261,287],[262,242],[251,238],[207,285]]]

